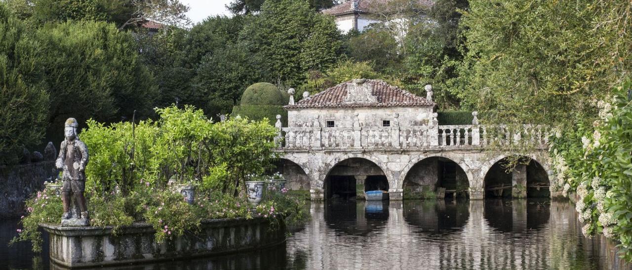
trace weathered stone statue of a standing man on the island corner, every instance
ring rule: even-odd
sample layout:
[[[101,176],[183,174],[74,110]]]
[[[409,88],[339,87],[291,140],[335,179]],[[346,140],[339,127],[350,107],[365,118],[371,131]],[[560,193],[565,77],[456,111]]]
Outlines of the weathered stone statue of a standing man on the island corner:
[[[74,118],[66,120],[64,136],[66,139],[61,142],[59,156],[56,167],[62,169],[61,180],[61,201],[64,206],[64,214],[61,217],[62,226],[87,226],[88,208],[85,197],[85,167],[88,165],[88,148],[83,141],[77,137],[76,129],[79,126]],[[75,199],[76,206],[79,207],[80,216],[73,216],[71,213],[72,199]]]

